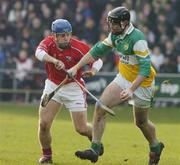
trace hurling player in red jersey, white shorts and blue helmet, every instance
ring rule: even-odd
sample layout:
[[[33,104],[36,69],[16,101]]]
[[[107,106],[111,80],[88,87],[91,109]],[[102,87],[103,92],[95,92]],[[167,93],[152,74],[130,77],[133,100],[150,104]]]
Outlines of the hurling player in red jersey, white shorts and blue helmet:
[[[89,51],[90,47],[72,37],[72,26],[65,19],[52,22],[52,35],[44,38],[36,49],[35,56],[45,62],[47,79],[42,97],[51,93],[66,77],[63,69],[69,69]],[[96,74],[102,67],[98,59],[91,65],[90,70],[84,72],[87,76]],[[76,79],[83,84],[82,71],[79,70]],[[41,97],[41,98],[42,98]],[[42,148],[42,157],[39,163],[52,163],[51,134],[52,122],[62,105],[70,111],[75,130],[92,138],[92,126],[87,122],[87,104],[84,91],[73,81],[68,82],[59,89],[46,107],[39,107],[39,141]]]

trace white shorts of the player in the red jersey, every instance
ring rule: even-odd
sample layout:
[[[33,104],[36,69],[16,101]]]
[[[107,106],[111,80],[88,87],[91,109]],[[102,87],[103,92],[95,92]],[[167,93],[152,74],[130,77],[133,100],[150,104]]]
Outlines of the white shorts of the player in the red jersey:
[[[57,85],[46,79],[45,87],[43,90],[43,96],[47,93],[51,93],[55,90]],[[60,104],[64,104],[67,109],[70,111],[86,111],[86,93],[77,85],[75,82],[71,82],[62,86],[58,92],[52,97],[52,100]]]

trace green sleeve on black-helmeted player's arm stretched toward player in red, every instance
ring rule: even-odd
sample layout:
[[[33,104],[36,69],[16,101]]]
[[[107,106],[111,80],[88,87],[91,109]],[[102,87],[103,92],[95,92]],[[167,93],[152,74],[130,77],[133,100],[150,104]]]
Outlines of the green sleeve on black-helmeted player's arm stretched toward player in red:
[[[90,54],[93,56],[94,59],[103,57],[104,55],[108,54],[113,48],[113,44],[111,41],[111,34],[102,42],[96,43],[90,50]]]

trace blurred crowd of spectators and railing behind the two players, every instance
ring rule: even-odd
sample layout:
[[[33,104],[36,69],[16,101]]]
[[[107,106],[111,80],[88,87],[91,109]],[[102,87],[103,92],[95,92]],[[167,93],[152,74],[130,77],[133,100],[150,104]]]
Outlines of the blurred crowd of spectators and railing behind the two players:
[[[68,19],[73,35],[93,45],[107,36],[107,13],[117,6],[130,10],[132,23],[147,37],[158,72],[155,105],[179,106],[179,0],[0,0],[0,102],[39,102],[46,74],[34,53],[53,20]],[[115,52],[103,61],[98,76],[87,79],[97,96],[117,73]]]

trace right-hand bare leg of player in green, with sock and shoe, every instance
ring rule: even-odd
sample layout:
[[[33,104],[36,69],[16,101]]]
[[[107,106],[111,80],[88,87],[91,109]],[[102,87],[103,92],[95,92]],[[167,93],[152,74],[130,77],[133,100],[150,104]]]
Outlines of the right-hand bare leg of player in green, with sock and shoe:
[[[146,104],[146,101],[141,101],[141,104]],[[164,148],[164,144],[162,142],[159,142],[156,137],[156,130],[154,124],[148,119],[148,112],[149,108],[142,108],[142,107],[136,107],[134,108],[134,120],[135,124],[140,128],[142,131],[144,137],[149,142],[150,146],[150,159],[149,159],[149,165],[157,164],[160,159],[161,152]]]

